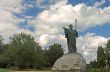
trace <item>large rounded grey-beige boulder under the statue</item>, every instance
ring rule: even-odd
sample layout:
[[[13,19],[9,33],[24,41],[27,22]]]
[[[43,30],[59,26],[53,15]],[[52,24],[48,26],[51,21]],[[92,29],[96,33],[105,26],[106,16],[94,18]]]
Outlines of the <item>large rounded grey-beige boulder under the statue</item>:
[[[85,72],[86,60],[79,53],[68,53],[53,65],[53,72]]]

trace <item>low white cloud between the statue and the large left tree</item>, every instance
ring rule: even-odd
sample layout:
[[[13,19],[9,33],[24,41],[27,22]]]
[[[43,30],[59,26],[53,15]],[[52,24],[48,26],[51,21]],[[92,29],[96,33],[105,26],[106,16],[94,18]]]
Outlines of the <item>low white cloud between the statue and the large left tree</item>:
[[[59,43],[67,51],[66,38],[63,35],[42,34],[38,40],[41,46],[48,48],[54,43]]]

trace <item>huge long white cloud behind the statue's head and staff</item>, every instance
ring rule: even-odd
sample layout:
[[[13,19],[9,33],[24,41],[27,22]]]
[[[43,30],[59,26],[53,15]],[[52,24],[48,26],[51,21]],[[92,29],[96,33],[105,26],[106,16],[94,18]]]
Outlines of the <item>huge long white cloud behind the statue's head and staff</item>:
[[[50,5],[50,9],[46,9],[36,16],[35,27],[39,32],[60,33],[61,27],[74,24],[74,20],[78,20],[78,30],[84,31],[88,28],[110,23],[110,7],[104,9],[86,4],[78,4],[72,6],[67,1],[60,1],[54,5]],[[55,32],[53,32],[55,31]]]

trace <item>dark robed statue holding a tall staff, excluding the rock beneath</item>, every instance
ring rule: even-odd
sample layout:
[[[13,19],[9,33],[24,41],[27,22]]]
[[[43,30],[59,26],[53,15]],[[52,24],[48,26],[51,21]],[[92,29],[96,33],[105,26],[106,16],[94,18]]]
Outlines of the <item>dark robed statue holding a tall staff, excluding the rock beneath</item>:
[[[77,23],[77,21],[76,21],[76,23]],[[75,24],[75,27],[76,27],[76,24]],[[63,29],[65,32],[65,38],[67,38],[68,52],[69,53],[77,52],[77,47],[76,47],[76,38],[78,37],[77,30],[73,29],[72,24],[69,25],[69,29],[67,29],[65,27],[63,27]]]

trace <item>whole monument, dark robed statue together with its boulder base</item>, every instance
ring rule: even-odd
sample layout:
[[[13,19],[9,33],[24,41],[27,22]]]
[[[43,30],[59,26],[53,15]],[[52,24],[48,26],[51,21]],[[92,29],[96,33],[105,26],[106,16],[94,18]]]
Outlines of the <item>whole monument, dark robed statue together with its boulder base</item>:
[[[59,58],[53,65],[53,72],[85,72],[86,60],[84,57],[77,53],[76,38],[78,38],[77,32],[77,20],[75,20],[75,28],[73,25],[69,25],[69,29],[63,27],[65,32],[65,38],[67,38],[68,53]]]

